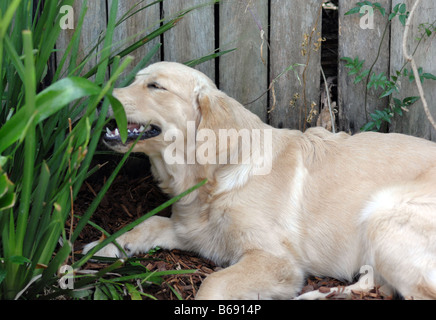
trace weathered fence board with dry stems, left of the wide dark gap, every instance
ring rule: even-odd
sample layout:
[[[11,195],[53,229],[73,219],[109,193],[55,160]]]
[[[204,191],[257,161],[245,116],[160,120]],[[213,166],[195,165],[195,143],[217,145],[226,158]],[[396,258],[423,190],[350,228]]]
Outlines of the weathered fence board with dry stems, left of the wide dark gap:
[[[312,102],[319,104],[321,59],[314,43],[320,38],[322,27],[321,3],[272,0],[270,10],[270,81],[274,82],[270,121],[276,127],[304,130]],[[305,65],[295,67],[301,83],[293,70],[286,72],[296,63]]]

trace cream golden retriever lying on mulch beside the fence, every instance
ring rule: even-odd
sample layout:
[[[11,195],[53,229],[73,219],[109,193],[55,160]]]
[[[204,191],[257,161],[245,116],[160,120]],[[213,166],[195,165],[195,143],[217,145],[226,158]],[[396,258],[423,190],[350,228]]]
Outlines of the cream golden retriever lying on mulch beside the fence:
[[[149,156],[170,196],[208,180],[173,205],[171,218],[152,217],[117,239],[129,255],[159,246],[226,266],[197,299],[288,299],[309,274],[351,281],[361,268],[371,273],[343,292],[375,280],[405,298],[436,299],[435,143],[275,129],[201,72],[172,62],[147,67],[114,95],[129,140],[108,130],[112,149],[126,152],[142,133],[134,152]],[[97,255],[122,254],[110,244]]]

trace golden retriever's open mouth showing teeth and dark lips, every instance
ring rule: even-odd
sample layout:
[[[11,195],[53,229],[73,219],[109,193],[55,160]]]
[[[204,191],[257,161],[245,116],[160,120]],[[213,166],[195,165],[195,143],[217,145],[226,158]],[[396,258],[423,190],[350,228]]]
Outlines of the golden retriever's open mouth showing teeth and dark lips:
[[[140,140],[151,139],[157,137],[161,133],[161,128],[153,124],[142,125],[130,122],[127,124],[127,142],[136,140],[138,138]],[[106,128],[106,134],[104,135],[103,139],[107,142],[121,143],[119,129],[115,128],[114,130],[111,130]]]

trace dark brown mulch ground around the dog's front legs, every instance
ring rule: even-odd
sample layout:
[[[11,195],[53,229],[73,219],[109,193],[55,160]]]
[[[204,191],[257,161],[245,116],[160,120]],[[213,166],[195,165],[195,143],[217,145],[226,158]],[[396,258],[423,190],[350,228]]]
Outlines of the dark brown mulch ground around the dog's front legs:
[[[78,215],[83,214],[97,196],[115,167],[117,159],[112,157],[97,161],[100,164],[106,164],[83,184],[74,204],[75,213]],[[112,234],[166,200],[168,198],[160,192],[151,176],[147,159],[132,157],[106,193],[91,220]],[[167,208],[159,215],[168,217],[170,214],[171,209]],[[100,237],[101,233],[98,230],[89,225],[86,226],[76,243],[76,253],[81,253],[83,245]],[[210,260],[179,250],[158,250],[144,257],[147,259],[141,263],[149,271],[197,270],[194,274],[164,276],[164,282],[161,285],[151,285],[143,289],[144,292],[159,300],[178,299],[173,290],[184,300],[192,300],[206,276],[221,269]],[[107,265],[104,263],[89,262],[83,269],[99,270],[105,266]],[[327,288],[330,287],[344,285],[347,283],[336,279],[309,277],[302,293],[319,288],[328,290]],[[354,294],[353,299],[382,300],[391,299],[391,297],[382,296],[378,290],[374,290],[365,295]]]

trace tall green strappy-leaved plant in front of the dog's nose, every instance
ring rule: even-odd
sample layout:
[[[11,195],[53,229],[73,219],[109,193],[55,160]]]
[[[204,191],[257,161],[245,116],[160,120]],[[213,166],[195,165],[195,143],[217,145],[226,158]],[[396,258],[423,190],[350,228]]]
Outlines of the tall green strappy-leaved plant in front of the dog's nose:
[[[42,297],[43,290],[56,283],[55,274],[70,257],[74,240],[128,156],[123,157],[76,229],[67,232],[65,224],[74,217],[73,202],[80,186],[98,169],[91,168],[91,160],[107,123],[109,105],[114,110],[122,139],[127,138],[125,113],[111,95],[117,77],[131,61],[127,55],[147,43],[146,39],[151,40],[174,27],[195,9],[180,12],[148,36],[117,52],[112,37],[116,26],[148,6],[134,5],[128,15],[117,21],[118,0],[113,0],[106,32],[100,37],[103,49],[97,52],[95,46],[77,63],[78,41],[87,8],[84,0],[72,41],[53,78],[49,79],[51,85],[44,86],[49,59],[61,32],[60,8],[73,2],[2,0],[0,3],[0,299]],[[132,70],[125,84],[150,61],[159,46]],[[223,53],[212,54],[208,59],[220,54]],[[96,55],[99,56],[97,66],[79,77],[83,66]],[[67,74],[61,79],[64,66]],[[106,81],[109,66],[112,75]],[[94,81],[88,80],[91,76],[95,76]],[[87,259],[89,256],[75,267]]]

